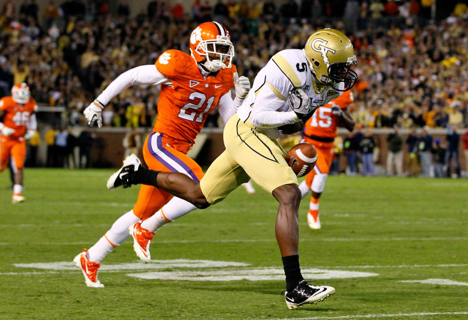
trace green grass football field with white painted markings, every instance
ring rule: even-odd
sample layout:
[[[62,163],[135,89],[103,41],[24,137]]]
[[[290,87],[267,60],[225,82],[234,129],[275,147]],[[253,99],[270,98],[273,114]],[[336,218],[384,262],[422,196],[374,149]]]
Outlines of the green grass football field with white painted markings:
[[[258,187],[161,228],[154,263],[127,240],[102,261],[105,288],[86,287],[73,258],[137,196],[107,191],[111,172],[26,169],[17,205],[0,174],[0,319],[468,319],[468,180],[330,177],[321,230],[301,204],[300,261],[336,294],[288,310],[277,205]]]

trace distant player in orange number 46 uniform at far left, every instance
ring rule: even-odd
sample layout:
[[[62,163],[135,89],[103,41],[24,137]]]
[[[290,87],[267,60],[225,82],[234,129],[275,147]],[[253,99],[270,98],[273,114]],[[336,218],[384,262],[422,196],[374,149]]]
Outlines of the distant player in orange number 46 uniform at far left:
[[[26,157],[26,139],[31,139],[37,129],[36,110],[38,106],[31,97],[26,83],[16,84],[11,96],[0,99],[0,171],[11,166],[15,173],[13,203],[23,202],[23,166]]]

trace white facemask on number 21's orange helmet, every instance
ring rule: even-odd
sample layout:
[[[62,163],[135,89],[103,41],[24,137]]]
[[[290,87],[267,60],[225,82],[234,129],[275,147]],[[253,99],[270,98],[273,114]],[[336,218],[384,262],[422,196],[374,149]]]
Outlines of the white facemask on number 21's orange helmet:
[[[200,41],[196,46],[195,53],[205,56],[205,62],[201,64],[208,71],[217,72],[220,68],[231,68],[234,45],[229,38],[217,36],[217,39]]]

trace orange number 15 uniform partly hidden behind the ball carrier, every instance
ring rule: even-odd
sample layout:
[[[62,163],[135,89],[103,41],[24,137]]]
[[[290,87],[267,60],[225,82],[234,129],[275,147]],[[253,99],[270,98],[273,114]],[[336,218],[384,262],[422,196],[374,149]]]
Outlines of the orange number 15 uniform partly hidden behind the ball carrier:
[[[333,114],[331,108],[337,105],[340,109],[345,109],[353,101],[351,90],[343,92],[338,98],[318,108],[304,126],[304,142],[312,144],[318,155],[314,169],[306,175],[305,180],[312,191],[323,191],[334,156],[333,141],[338,134],[340,117]],[[318,176],[314,179],[316,175]]]

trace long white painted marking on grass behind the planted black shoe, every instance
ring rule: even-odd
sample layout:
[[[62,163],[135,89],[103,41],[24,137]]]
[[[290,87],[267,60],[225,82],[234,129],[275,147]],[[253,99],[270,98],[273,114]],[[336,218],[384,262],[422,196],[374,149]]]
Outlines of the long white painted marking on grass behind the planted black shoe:
[[[313,279],[347,279],[378,276],[378,273],[325,270],[325,269],[301,269],[304,278]],[[259,269],[241,270],[210,270],[210,271],[155,271],[144,273],[129,273],[127,276],[150,280],[183,280],[183,281],[263,281],[284,280],[283,268],[266,267]]]

